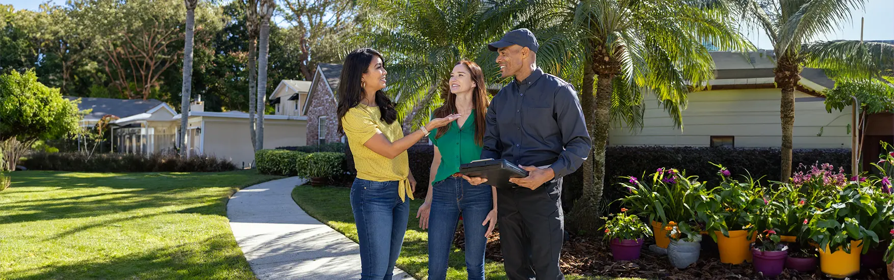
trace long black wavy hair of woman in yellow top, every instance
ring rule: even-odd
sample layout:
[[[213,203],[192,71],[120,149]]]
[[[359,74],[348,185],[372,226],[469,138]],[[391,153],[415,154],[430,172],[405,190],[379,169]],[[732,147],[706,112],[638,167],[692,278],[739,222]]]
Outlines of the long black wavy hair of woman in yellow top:
[[[338,131],[344,133],[342,127],[342,118],[348,113],[350,108],[357,107],[360,100],[366,96],[363,91],[363,74],[369,69],[369,63],[373,62],[375,57],[382,58],[382,54],[371,48],[361,48],[350,52],[344,58],[342,65],[342,78],[339,80],[338,86]],[[384,59],[383,59],[384,60]],[[382,120],[387,124],[392,124],[397,120],[397,110],[394,109],[394,103],[382,90],[375,92],[375,104],[379,106],[382,112]]]

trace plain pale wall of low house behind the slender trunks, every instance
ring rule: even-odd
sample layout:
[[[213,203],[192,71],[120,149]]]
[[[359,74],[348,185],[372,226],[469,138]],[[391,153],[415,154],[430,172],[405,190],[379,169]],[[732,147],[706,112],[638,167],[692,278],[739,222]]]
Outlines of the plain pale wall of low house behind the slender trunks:
[[[248,167],[254,161],[248,119],[203,117],[205,128],[204,154],[232,161],[237,167],[242,162]],[[295,119],[264,119],[264,148],[303,146],[307,142],[307,121]]]

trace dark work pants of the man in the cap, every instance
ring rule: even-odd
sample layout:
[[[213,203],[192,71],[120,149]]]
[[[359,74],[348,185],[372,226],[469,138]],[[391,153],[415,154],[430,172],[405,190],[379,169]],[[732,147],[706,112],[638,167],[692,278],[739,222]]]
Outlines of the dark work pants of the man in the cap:
[[[561,280],[559,254],[564,235],[562,179],[531,190],[497,188],[500,244],[510,280]]]

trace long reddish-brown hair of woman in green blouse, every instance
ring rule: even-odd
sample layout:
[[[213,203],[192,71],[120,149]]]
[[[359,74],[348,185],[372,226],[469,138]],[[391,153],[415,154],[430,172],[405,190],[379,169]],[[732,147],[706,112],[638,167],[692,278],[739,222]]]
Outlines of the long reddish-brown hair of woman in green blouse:
[[[485,84],[485,73],[481,70],[481,67],[478,66],[475,62],[469,62],[467,60],[462,60],[457,62],[456,65],[466,65],[468,68],[469,75],[472,76],[472,82],[475,83],[475,87],[472,88],[472,107],[475,109],[475,143],[478,145],[483,145],[485,142],[485,114],[487,113],[487,106],[490,105],[491,101],[487,98],[487,86]],[[449,88],[449,86],[448,86]],[[450,114],[457,113],[456,111],[456,95],[450,92],[450,89],[445,93],[446,100],[441,108],[434,110],[434,118],[443,118],[447,117]],[[438,128],[438,133],[434,135],[434,138],[441,138],[447,130],[450,130],[453,123],[449,123],[443,128]]]

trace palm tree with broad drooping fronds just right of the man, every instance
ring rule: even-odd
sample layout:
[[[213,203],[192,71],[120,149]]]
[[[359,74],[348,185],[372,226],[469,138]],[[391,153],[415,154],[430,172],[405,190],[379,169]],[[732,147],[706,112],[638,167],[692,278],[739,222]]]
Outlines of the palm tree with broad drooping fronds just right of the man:
[[[687,94],[713,78],[704,43],[746,51],[751,45],[730,21],[728,7],[713,1],[578,0],[542,1],[539,10],[555,26],[568,28],[562,41],[584,54],[581,106],[593,139],[584,165],[584,194],[575,202],[569,226],[596,232],[602,213],[605,145],[612,122],[642,128],[643,95],[651,93],[682,128]],[[568,52],[569,49],[546,50]],[[544,53],[544,51],[541,51]],[[538,54],[539,55],[539,54]],[[595,95],[594,95],[594,82]],[[595,107],[595,108],[594,108]]]

